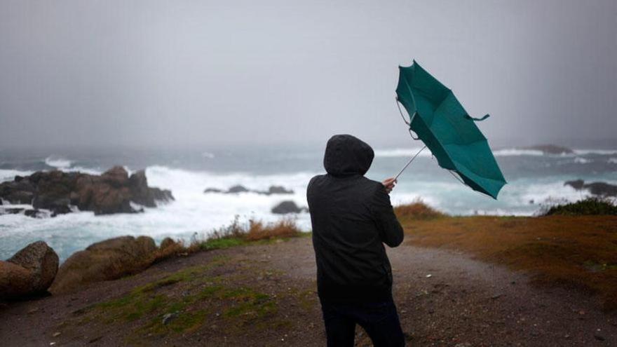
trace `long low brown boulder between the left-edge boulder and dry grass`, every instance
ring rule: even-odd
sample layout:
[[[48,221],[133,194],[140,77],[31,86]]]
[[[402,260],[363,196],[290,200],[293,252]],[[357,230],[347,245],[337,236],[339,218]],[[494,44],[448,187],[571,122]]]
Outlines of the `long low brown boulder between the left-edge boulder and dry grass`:
[[[147,236],[121,236],[94,243],[60,266],[50,292],[72,292],[88,283],[138,273],[152,264],[156,250],[154,240]]]

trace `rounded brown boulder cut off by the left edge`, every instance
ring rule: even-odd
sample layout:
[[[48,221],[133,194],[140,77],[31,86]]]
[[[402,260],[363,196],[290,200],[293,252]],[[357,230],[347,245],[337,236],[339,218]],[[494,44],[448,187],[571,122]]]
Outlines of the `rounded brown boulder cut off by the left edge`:
[[[43,241],[0,261],[0,297],[18,299],[46,292],[58,270],[58,256]]]

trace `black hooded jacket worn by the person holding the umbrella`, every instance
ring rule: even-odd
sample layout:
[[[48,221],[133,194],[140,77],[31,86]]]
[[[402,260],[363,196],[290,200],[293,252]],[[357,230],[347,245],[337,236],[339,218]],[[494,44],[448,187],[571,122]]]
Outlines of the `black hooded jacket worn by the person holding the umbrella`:
[[[372,148],[351,135],[327,142],[326,175],[308,183],[317,285],[321,301],[385,301],[392,296],[392,270],[384,244],[400,245],[402,227],[381,182],[363,175]]]

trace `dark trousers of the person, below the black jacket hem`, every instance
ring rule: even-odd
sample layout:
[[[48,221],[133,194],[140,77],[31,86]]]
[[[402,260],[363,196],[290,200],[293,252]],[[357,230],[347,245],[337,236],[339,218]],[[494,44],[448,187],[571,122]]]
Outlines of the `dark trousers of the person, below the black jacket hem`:
[[[405,346],[392,299],[377,303],[321,303],[328,347],[353,346],[355,325],[365,329],[375,347]]]

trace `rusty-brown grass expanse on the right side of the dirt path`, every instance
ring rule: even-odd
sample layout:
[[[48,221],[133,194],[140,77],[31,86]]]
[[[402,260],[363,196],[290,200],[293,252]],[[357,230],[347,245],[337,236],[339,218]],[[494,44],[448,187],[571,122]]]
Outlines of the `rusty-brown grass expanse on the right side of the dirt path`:
[[[604,308],[617,309],[615,216],[426,219],[401,215],[400,221],[409,244],[470,252],[484,261],[528,271],[540,285],[598,294]]]

